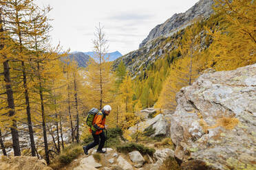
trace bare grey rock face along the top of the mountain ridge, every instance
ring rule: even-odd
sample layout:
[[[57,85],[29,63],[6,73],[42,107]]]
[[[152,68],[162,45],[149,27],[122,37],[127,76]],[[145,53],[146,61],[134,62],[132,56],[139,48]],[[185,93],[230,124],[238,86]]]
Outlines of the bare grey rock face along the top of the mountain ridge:
[[[213,5],[213,0],[200,0],[186,12],[174,14],[164,23],[154,27],[151,32],[149,32],[147,38],[140,43],[140,48],[154,38],[158,38],[160,36],[171,36],[180,29],[184,29],[184,27],[191,25],[191,21],[195,18],[206,18],[210,16],[213,13],[211,5]]]

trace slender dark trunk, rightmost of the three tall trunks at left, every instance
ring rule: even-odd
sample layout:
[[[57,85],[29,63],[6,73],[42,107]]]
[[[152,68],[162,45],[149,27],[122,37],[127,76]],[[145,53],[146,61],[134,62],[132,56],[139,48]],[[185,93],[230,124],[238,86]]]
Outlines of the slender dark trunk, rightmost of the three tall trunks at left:
[[[48,152],[48,143],[47,143],[47,133],[46,133],[46,127],[45,127],[45,106],[43,104],[43,89],[41,84],[41,75],[40,75],[40,66],[39,62],[37,62],[37,69],[39,72],[39,94],[40,94],[40,101],[41,101],[41,112],[42,112],[42,126],[43,126],[43,142],[45,144],[45,160],[47,162],[47,165],[50,164],[49,159],[49,152]]]

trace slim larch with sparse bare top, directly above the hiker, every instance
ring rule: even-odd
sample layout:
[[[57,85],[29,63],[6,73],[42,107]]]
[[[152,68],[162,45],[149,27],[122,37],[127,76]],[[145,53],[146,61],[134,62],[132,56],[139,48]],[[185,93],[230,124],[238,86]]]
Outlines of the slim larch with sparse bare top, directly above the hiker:
[[[103,108],[111,101],[111,88],[113,86],[113,75],[111,73],[111,62],[107,56],[107,40],[103,27],[96,27],[94,43],[94,56],[91,56],[87,72],[85,73],[88,88],[89,108]]]

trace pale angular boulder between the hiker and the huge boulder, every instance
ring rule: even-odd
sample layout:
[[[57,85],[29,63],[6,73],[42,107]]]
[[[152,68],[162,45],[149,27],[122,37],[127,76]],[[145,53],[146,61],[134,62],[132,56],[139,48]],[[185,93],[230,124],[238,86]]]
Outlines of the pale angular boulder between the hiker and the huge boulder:
[[[158,114],[153,119],[148,119],[147,121],[142,121],[138,123],[138,130],[140,132],[143,132],[150,127],[154,130],[153,136],[159,136],[159,135],[166,135],[167,134],[167,120],[165,119],[163,114]],[[137,125],[134,125],[132,127],[129,127],[129,132],[131,134],[134,134],[137,130]]]

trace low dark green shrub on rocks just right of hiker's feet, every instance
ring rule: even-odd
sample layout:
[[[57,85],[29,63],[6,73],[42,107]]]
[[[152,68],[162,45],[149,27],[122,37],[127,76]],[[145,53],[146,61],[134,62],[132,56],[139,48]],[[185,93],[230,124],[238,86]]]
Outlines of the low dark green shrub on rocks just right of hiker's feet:
[[[144,145],[136,144],[136,143],[127,143],[126,145],[118,146],[116,147],[116,150],[119,152],[122,152],[124,154],[128,154],[131,151],[140,151],[140,154],[145,155],[149,154],[150,156],[153,156],[153,153],[155,153],[155,149],[145,147]]]

